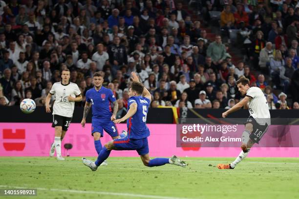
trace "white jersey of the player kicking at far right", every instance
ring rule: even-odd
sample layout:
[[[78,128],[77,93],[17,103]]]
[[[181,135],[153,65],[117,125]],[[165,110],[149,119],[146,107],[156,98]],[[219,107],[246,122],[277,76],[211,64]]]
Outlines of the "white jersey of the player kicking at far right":
[[[249,115],[256,119],[259,124],[264,125],[267,122],[270,125],[269,107],[263,91],[258,87],[250,87],[246,96],[251,99],[249,101]]]

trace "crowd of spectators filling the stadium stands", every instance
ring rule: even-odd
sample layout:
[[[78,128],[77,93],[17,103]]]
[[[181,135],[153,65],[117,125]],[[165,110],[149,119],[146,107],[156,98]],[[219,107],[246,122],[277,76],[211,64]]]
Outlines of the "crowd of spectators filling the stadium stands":
[[[299,109],[297,1],[194,2],[205,24],[211,11],[221,12],[222,34],[213,41],[180,1],[0,0],[0,105],[25,98],[44,105],[68,68],[83,97],[103,71],[120,114],[132,71],[151,92],[151,107],[230,108],[242,98],[235,81],[246,77],[264,91],[269,109]],[[235,64],[222,43],[231,30],[246,56]]]

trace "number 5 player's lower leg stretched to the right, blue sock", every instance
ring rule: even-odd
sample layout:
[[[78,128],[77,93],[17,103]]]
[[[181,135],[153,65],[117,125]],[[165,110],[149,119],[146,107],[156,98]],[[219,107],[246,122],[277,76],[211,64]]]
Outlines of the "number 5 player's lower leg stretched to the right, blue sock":
[[[186,167],[188,165],[187,162],[177,158],[176,156],[172,156],[171,158],[150,159],[149,154],[146,154],[146,155],[141,155],[140,158],[141,158],[143,164],[148,167],[162,166],[164,164],[174,164],[174,165],[182,166],[182,167]]]

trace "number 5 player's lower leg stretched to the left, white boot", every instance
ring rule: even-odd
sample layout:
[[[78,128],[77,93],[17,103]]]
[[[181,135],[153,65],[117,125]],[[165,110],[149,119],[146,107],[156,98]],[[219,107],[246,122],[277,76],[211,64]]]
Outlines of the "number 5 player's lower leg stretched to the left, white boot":
[[[82,158],[83,164],[89,167],[92,171],[96,171],[98,167],[109,157],[112,147],[113,147],[113,140],[108,141],[104,145],[103,149],[101,150],[95,162],[91,161],[90,159]]]

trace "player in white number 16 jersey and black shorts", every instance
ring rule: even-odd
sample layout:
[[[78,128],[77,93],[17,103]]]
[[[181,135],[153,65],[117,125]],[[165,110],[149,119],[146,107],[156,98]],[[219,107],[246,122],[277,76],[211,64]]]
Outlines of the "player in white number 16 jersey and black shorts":
[[[55,149],[58,160],[64,160],[61,156],[61,141],[72,120],[75,101],[82,101],[81,91],[77,84],[69,81],[70,71],[65,69],[61,74],[62,81],[55,82],[46,97],[45,108],[47,113],[51,113],[50,99],[55,95],[55,102],[53,105],[53,123],[55,127],[54,143],[51,145],[50,157],[54,156]]]

